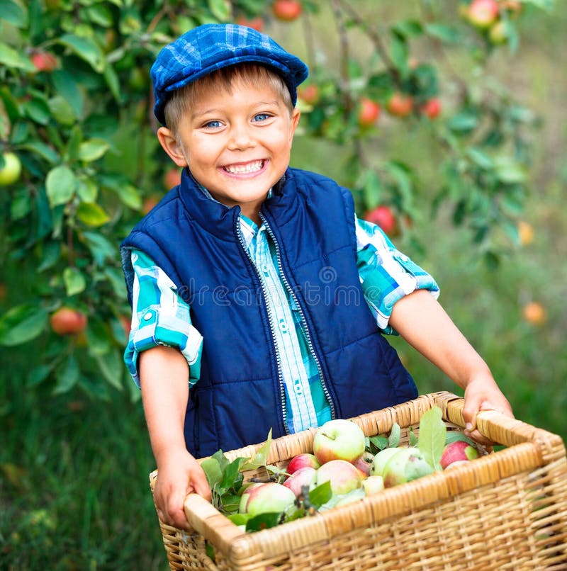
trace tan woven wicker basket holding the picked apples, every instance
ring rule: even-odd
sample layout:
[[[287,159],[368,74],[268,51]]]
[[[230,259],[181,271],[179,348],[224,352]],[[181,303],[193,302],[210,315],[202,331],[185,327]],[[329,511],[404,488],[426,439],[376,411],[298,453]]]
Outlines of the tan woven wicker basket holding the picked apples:
[[[356,417],[367,436],[394,422],[417,429],[432,406],[461,429],[463,399],[449,392]],[[478,429],[506,448],[466,465],[388,488],[317,516],[245,533],[196,494],[185,501],[191,531],[160,521],[171,570],[566,570],[567,460],[560,436],[493,411]],[[272,441],[268,463],[312,451],[314,430]],[[252,457],[261,446],[226,453]],[[245,474],[245,479],[257,473]],[[156,472],[150,475],[153,490]],[[206,555],[213,545],[215,560]]]

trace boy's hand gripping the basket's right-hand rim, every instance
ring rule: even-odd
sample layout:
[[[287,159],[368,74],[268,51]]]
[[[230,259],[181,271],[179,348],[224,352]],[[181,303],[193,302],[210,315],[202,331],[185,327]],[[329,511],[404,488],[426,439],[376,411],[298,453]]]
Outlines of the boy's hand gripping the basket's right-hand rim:
[[[510,402],[507,401],[490,374],[478,376],[466,385],[463,409],[466,436],[490,446],[493,442],[485,438],[476,429],[476,414],[480,410],[495,410],[507,417],[514,418]]]

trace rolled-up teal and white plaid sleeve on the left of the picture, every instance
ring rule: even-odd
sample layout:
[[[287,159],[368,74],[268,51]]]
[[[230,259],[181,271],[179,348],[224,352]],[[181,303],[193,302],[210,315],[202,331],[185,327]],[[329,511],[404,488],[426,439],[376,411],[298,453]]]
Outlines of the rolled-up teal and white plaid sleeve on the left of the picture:
[[[124,362],[140,386],[137,358],[158,345],[181,351],[189,364],[189,386],[201,375],[203,337],[191,324],[189,305],[177,293],[173,281],[142,251],[132,251],[134,269],[132,325]]]

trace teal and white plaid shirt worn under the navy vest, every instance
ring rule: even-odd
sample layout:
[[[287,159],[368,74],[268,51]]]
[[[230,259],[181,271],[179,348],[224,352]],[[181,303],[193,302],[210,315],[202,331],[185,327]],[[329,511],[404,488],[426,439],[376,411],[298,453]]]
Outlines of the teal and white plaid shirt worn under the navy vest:
[[[395,249],[386,234],[371,222],[356,220],[357,262],[364,298],[382,332],[395,334],[388,324],[396,301],[416,289],[439,288],[432,276]],[[308,349],[301,312],[283,285],[274,244],[264,225],[240,216],[240,231],[250,259],[257,268],[274,315],[274,344],[286,392],[286,423],[293,433],[320,426],[331,418],[315,358]],[[135,272],[133,315],[124,361],[140,385],[137,356],[163,344],[178,348],[189,363],[189,386],[200,374],[203,337],[191,324],[189,305],[176,293],[174,283],[141,251],[132,252]]]

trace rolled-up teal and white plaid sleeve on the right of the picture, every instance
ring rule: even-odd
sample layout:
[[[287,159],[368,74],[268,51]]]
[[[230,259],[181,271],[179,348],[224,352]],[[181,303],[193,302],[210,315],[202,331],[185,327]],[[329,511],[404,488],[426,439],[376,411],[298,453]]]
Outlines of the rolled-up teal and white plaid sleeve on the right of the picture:
[[[394,304],[415,290],[429,290],[439,297],[439,286],[427,271],[402,254],[380,227],[356,220],[357,264],[364,299],[378,328],[397,334],[389,325]]]

